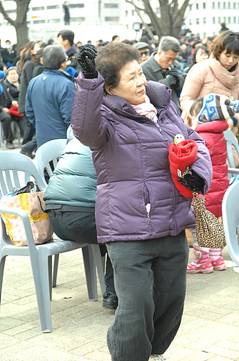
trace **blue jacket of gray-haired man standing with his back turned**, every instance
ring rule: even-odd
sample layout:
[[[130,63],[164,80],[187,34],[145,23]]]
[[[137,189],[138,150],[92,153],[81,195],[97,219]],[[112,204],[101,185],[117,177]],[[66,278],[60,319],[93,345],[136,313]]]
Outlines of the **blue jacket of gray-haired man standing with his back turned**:
[[[37,148],[48,140],[67,137],[75,92],[73,78],[60,70],[45,69],[30,81],[25,111],[36,128]]]

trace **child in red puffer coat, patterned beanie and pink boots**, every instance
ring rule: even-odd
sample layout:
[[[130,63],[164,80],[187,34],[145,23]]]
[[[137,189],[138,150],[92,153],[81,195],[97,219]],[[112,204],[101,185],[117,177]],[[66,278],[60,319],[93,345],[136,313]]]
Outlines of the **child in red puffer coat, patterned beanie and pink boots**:
[[[229,187],[227,176],[227,146],[224,131],[233,123],[233,116],[238,112],[239,101],[231,101],[227,96],[208,94],[197,98],[191,106],[192,128],[204,139],[213,165],[213,181],[204,195],[205,206],[222,224],[222,199]],[[232,119],[231,119],[232,118]],[[229,124],[226,119],[229,119]],[[232,124],[233,125],[233,124]],[[188,264],[188,274],[210,274],[226,269],[222,249],[208,249],[197,243],[195,229],[193,234],[193,262]]]

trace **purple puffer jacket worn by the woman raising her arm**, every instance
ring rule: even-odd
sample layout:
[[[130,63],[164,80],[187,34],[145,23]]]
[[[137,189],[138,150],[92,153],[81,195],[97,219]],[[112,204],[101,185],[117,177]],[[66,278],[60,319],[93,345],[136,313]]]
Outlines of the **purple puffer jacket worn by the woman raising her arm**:
[[[77,83],[71,127],[93,150],[98,242],[148,240],[195,227],[191,199],[181,196],[172,182],[168,144],[179,133],[197,142],[191,168],[204,178],[203,193],[211,185],[211,159],[202,138],[179,117],[171,91],[154,81],[146,85],[157,108],[157,128],[121,97],[104,97],[100,74],[86,79],[80,72]]]

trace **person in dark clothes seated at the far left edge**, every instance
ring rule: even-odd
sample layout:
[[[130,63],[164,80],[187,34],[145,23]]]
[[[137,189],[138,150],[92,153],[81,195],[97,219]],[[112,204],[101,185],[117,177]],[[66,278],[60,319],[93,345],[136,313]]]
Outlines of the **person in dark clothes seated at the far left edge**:
[[[12,134],[11,122],[12,115],[10,114],[9,108],[12,106],[17,106],[17,101],[15,101],[11,94],[8,92],[8,87],[3,82],[5,78],[5,73],[0,70],[0,121],[3,126],[4,137],[6,138],[6,147],[8,149],[14,149],[15,146],[12,143],[14,140],[14,135]]]

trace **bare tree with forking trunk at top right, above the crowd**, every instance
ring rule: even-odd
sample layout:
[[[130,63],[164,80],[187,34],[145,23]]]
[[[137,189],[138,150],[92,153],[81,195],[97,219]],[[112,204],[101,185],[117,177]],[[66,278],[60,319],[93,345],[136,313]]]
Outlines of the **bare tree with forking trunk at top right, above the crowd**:
[[[160,38],[162,35],[178,37],[190,0],[184,0],[181,7],[179,7],[178,0],[159,0],[159,16],[156,15],[155,9],[152,8],[150,0],[125,1],[134,6],[141,20],[143,19],[142,13],[148,15],[155,33]],[[145,30],[148,32],[146,27]],[[148,35],[152,38],[152,33],[148,33]]]

